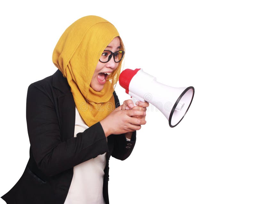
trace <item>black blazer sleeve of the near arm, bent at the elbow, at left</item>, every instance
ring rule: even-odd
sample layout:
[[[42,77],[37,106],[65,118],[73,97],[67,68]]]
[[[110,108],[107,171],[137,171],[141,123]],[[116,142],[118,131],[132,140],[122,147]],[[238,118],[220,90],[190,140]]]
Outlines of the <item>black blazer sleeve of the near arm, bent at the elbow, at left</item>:
[[[61,141],[60,126],[51,93],[45,87],[28,87],[26,118],[31,150],[38,168],[53,176],[108,152],[100,122]]]

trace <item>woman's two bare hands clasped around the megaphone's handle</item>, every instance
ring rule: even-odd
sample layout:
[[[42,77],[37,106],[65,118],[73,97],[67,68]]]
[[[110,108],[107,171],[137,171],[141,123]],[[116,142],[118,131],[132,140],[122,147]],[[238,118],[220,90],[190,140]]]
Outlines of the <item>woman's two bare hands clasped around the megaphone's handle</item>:
[[[139,130],[141,125],[146,124],[145,116],[146,112],[139,109],[126,110],[125,104],[117,107],[106,118],[100,121],[100,124],[104,130],[106,137],[111,134],[123,134],[127,132],[133,132]],[[132,116],[141,116],[141,118],[135,118]]]

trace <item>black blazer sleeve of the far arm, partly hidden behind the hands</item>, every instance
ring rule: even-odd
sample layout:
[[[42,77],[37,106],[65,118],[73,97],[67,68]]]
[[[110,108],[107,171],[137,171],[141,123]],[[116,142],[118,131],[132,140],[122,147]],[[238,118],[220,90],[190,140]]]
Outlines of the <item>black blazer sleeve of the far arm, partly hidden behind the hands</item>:
[[[120,106],[120,102],[115,91],[113,95],[115,98],[115,103],[117,108],[118,106]],[[131,141],[126,140],[125,134],[113,135],[113,137],[115,142],[114,142],[114,149],[111,156],[120,160],[124,160],[128,158],[131,155],[136,142],[136,131],[132,132]]]

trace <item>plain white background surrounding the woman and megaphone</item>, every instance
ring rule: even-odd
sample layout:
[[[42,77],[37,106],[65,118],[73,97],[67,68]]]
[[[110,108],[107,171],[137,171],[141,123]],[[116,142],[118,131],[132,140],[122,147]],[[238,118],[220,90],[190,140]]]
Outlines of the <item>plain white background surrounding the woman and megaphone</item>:
[[[1,3],[0,196],[28,162],[28,85],[56,71],[52,51],[64,30],[98,15],[124,41],[124,68],[195,87],[178,126],[150,106],[132,155],[110,159],[110,203],[256,203],[253,1],[125,2]],[[119,84],[116,92],[120,101],[129,98]]]

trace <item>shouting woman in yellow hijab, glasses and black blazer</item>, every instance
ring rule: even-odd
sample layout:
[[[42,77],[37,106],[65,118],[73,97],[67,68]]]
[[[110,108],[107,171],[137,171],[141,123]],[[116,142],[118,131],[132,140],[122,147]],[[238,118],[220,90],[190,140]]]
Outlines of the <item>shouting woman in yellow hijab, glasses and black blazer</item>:
[[[109,203],[109,157],[129,157],[148,107],[119,105],[123,56],[119,33],[103,18],[80,18],[62,34],[52,55],[58,70],[28,87],[30,158],[2,197],[7,204]]]

